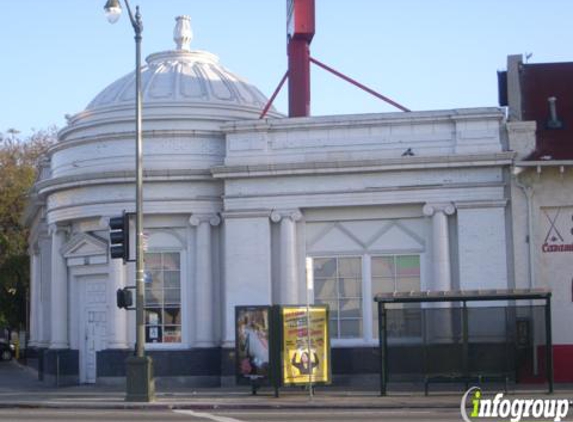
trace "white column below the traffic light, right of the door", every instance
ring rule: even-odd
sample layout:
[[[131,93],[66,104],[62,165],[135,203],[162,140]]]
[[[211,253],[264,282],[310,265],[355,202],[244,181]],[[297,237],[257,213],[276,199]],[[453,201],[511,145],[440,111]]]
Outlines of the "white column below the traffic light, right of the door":
[[[117,289],[125,287],[125,267],[121,259],[109,260],[109,283],[108,283],[108,304],[109,304],[109,349],[127,349],[127,313],[125,309],[117,307]]]

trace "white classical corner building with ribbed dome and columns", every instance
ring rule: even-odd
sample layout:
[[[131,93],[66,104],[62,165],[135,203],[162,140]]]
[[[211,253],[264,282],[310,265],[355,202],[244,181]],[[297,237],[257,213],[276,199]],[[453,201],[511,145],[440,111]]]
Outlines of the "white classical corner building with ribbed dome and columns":
[[[335,379],[378,371],[374,293],[514,285],[502,109],[259,120],[266,99],[212,54],[183,45],[147,61],[146,332],[160,380],[231,379],[235,305],[304,303],[306,257],[313,300],[331,307]],[[133,347],[133,313],[115,306],[133,265],[108,252],[109,217],[134,210],[133,91],[130,74],[71,117],[35,185],[30,344],[45,378],[58,362],[61,381],[116,382]]]

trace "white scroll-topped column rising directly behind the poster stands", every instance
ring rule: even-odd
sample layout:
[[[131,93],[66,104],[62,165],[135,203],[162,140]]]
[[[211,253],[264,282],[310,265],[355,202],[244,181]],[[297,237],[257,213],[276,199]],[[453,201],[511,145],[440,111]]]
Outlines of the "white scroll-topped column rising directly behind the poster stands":
[[[271,220],[280,226],[280,287],[279,301],[282,305],[298,303],[296,265],[296,222],[302,219],[299,210],[273,211]]]

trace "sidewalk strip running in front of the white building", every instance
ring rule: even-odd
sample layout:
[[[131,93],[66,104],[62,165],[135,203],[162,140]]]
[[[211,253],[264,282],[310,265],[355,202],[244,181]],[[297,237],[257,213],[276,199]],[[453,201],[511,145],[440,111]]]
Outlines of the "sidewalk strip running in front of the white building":
[[[540,386],[540,389],[543,386]],[[497,391],[485,394],[493,395]],[[398,393],[390,391],[380,397],[376,391],[317,388],[311,399],[308,391],[282,389],[279,398],[271,389],[256,396],[248,387],[216,389],[177,389],[158,391],[152,403],[125,402],[125,391],[118,387],[81,385],[46,387],[36,373],[16,362],[0,364],[0,408],[69,408],[69,409],[428,409],[460,407],[463,392]],[[541,390],[508,393],[508,398],[573,399],[573,389],[557,389],[548,396]]]

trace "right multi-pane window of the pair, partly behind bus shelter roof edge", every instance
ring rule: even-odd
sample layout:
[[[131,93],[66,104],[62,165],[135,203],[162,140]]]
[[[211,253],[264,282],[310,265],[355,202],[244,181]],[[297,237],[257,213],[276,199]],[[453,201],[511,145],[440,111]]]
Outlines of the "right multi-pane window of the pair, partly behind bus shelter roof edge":
[[[420,256],[386,255],[372,257],[372,296],[377,293],[420,291]],[[391,305],[388,309],[401,308],[401,316],[390,314],[388,331],[399,337],[417,337],[420,331],[419,305]],[[378,306],[372,307],[373,336],[378,337]]]

